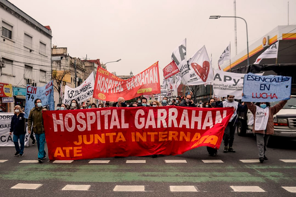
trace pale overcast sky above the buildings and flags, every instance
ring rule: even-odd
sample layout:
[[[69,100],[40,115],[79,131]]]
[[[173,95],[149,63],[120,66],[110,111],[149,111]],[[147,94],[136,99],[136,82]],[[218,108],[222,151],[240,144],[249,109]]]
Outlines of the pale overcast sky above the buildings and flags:
[[[235,56],[233,0],[10,0],[52,30],[52,44],[67,47],[72,57],[100,59],[117,75],[137,74],[159,61],[171,61],[174,48],[187,38],[189,59],[203,45],[212,64],[231,42]],[[296,24],[296,0],[289,1],[289,24]],[[287,0],[236,0],[236,16],[248,24],[250,45],[279,25],[288,24]],[[237,53],[246,48],[246,26],[237,19]]]

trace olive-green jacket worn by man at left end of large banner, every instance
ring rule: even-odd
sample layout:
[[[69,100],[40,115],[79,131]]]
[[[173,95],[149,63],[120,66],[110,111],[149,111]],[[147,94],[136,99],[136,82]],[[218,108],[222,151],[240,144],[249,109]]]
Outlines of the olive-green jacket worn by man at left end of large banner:
[[[44,134],[44,125],[43,125],[43,118],[42,118],[42,109],[46,109],[44,107],[40,107],[37,109],[34,107],[30,111],[30,115],[28,118],[28,130],[31,131],[31,127],[33,125],[32,131],[35,134]]]

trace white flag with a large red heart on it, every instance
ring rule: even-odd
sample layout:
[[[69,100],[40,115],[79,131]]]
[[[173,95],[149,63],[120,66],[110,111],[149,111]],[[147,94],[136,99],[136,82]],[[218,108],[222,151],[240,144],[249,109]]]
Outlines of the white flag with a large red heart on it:
[[[186,67],[182,74],[187,85],[201,85],[214,79],[213,68],[204,45],[189,59]]]

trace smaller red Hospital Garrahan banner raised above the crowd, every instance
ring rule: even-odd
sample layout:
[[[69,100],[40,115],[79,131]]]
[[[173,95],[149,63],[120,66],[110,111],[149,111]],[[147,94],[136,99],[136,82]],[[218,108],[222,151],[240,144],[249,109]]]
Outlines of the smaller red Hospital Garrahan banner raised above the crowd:
[[[117,101],[118,97],[123,97],[125,100],[129,100],[144,93],[160,93],[158,62],[127,80],[122,80],[98,67],[93,98],[103,101]]]

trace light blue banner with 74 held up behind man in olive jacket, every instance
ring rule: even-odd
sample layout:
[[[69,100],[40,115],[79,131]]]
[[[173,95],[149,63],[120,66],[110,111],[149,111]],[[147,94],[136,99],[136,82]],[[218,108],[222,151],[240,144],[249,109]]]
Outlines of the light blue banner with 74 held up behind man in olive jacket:
[[[27,85],[25,118],[29,117],[31,109],[35,107],[34,101],[37,98],[41,100],[42,106],[47,110],[55,110],[53,81],[48,82],[43,87]]]

